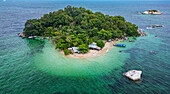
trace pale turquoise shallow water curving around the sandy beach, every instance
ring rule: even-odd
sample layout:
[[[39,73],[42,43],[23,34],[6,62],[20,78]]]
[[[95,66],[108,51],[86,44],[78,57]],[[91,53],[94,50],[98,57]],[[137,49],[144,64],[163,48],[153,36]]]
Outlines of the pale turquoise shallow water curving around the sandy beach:
[[[34,62],[39,69],[56,76],[91,77],[105,75],[112,69],[123,66],[123,61],[128,58],[128,53],[120,54],[116,49],[96,58],[67,58],[55,51],[54,48],[53,44],[47,41],[42,53],[37,53],[34,56]],[[125,55],[127,57],[124,57]]]

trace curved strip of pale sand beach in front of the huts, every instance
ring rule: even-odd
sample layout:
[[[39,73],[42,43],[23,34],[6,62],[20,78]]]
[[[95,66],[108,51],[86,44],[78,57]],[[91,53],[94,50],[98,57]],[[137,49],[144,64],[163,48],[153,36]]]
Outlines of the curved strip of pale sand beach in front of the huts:
[[[105,47],[103,47],[103,49],[100,51],[89,50],[89,52],[86,54],[74,53],[73,55],[70,54],[70,55],[67,55],[66,57],[68,58],[94,58],[94,57],[101,56],[107,53],[113,47],[113,44],[115,43],[118,43],[118,41],[106,42]],[[64,55],[63,51],[60,51],[60,52]]]

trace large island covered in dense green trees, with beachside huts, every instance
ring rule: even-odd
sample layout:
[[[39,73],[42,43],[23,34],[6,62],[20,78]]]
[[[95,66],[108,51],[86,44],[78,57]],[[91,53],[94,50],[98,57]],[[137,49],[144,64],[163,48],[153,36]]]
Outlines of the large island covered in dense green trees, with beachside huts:
[[[117,43],[113,40],[140,35],[138,26],[127,22],[124,17],[72,6],[45,14],[40,19],[28,20],[24,32],[20,33],[26,38],[48,37],[60,52],[65,55],[80,54],[79,57],[92,50],[99,53],[103,49],[108,50],[109,42]]]

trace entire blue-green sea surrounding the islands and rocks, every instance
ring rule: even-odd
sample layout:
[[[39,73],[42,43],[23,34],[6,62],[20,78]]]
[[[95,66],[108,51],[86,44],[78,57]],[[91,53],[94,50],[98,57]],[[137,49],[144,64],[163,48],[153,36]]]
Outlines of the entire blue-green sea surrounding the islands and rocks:
[[[67,5],[124,16],[148,36],[125,42],[126,48],[113,48],[96,58],[73,59],[60,54],[49,40],[21,39],[16,35],[23,31],[28,19]],[[163,14],[139,13],[148,9]],[[153,24],[164,27],[146,29]],[[143,71],[141,81],[133,82],[122,75],[132,69]],[[58,93],[170,94],[170,2],[1,1],[0,94]]]

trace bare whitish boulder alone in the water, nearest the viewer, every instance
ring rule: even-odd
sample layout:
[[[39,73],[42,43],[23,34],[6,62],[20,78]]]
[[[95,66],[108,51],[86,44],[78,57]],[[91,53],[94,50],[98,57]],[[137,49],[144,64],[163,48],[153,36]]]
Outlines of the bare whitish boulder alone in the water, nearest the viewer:
[[[133,81],[138,81],[141,79],[142,71],[131,70],[124,74],[127,78]]]

